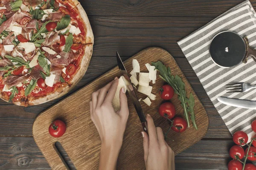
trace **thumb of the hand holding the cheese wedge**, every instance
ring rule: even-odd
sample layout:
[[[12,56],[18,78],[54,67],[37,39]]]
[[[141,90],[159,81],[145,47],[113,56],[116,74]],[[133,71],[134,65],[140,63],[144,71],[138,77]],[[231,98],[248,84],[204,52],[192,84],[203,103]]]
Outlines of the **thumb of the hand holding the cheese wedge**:
[[[127,97],[125,95],[125,88],[121,88],[119,98],[120,98],[120,116],[122,118],[128,119],[129,116],[129,109],[128,109],[128,102]]]

